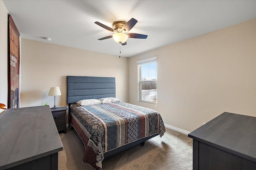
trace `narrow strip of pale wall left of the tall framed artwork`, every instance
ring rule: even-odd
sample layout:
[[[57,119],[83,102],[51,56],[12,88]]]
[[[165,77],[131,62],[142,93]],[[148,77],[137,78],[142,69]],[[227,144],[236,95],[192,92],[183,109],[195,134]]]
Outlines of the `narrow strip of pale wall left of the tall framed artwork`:
[[[8,92],[8,11],[0,0],[0,103],[7,106]],[[7,108],[7,107],[5,107]],[[3,111],[0,109],[0,112]]]

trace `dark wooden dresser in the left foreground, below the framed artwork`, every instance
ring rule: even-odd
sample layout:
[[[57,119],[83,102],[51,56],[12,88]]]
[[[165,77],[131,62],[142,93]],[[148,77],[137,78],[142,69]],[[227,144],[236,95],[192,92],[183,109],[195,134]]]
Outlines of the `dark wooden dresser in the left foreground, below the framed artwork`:
[[[62,148],[49,106],[0,114],[0,170],[58,170]]]

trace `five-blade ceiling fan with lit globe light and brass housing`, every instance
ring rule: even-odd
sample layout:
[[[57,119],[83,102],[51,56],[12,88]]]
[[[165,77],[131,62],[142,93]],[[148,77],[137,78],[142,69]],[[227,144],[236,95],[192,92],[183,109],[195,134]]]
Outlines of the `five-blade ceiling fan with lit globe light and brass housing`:
[[[107,37],[100,38],[98,40],[108,39],[108,38],[114,38],[114,40],[117,43],[120,43],[122,45],[126,45],[126,40],[128,38],[139,38],[139,39],[146,39],[148,35],[143,34],[137,34],[137,33],[128,33],[132,27],[137,23],[138,21],[134,18],[130,19],[128,22],[125,21],[115,21],[113,23],[113,28],[110,28],[98,21],[94,22],[97,25],[100,25],[102,28],[107,29],[108,31],[114,32],[113,35],[109,35]]]

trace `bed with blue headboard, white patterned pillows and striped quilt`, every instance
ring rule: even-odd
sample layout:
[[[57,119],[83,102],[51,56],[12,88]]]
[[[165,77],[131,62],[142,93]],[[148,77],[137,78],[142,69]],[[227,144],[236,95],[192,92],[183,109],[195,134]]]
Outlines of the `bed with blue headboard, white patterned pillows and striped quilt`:
[[[81,104],[92,99],[101,101]],[[69,125],[86,149],[82,161],[96,170],[104,158],[165,132],[158,112],[116,99],[114,77],[67,76],[67,103]]]

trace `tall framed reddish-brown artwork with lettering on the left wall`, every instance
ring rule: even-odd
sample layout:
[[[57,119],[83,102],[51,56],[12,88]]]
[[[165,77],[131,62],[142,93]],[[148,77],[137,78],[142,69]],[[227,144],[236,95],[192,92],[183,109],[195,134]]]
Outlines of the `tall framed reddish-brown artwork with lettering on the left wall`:
[[[8,108],[20,106],[20,33],[8,14]]]

